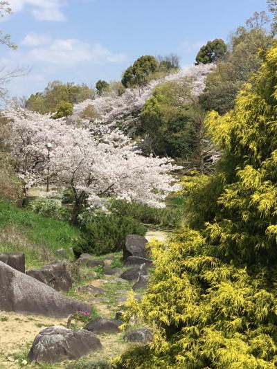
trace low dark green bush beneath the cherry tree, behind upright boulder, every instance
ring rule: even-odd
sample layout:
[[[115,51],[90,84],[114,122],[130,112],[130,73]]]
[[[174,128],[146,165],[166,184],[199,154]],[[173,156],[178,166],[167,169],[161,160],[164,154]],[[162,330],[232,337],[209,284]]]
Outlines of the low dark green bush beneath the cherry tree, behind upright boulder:
[[[75,256],[81,253],[103,255],[123,249],[129,234],[145,235],[146,228],[132,217],[96,213],[82,223],[82,239],[75,247]]]

